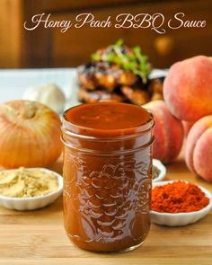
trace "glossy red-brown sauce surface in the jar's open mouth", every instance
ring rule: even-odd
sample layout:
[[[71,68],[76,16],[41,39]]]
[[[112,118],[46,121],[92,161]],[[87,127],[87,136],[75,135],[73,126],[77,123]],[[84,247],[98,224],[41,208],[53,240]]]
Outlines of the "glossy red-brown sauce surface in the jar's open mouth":
[[[82,104],[66,111],[66,120],[77,127],[104,130],[123,130],[137,128],[151,119],[150,114],[136,106],[126,103],[102,102]]]

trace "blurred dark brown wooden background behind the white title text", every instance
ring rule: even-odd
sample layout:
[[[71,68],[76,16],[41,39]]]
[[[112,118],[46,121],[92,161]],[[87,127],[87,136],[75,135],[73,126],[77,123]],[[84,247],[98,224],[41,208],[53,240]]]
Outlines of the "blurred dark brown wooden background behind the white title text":
[[[126,40],[129,46],[139,45],[154,67],[198,54],[211,55],[212,0],[1,0],[0,1],[0,67],[60,67],[78,66],[90,59],[91,53],[115,42]],[[206,20],[205,28],[172,30],[167,22],[175,13],[185,13],[185,20]],[[147,29],[115,29],[72,27],[65,33],[58,28],[26,31],[23,23],[31,24],[35,14],[51,13],[51,20],[75,21],[79,13],[93,13],[96,20],[105,20],[119,13],[162,13],[165,34]],[[192,45],[190,45],[192,43]]]

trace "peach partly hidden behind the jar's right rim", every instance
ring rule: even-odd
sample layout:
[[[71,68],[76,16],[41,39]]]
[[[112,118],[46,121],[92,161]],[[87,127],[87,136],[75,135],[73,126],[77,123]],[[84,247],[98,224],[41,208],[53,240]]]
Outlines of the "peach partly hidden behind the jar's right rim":
[[[148,102],[142,107],[150,110],[155,119],[153,157],[163,163],[170,163],[181,151],[183,141],[181,121],[172,116],[163,101]]]

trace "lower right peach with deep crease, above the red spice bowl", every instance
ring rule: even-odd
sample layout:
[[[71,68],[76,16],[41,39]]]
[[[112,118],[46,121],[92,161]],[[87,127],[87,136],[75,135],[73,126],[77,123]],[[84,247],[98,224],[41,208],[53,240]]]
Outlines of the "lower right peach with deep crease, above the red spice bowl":
[[[185,159],[190,171],[212,181],[212,115],[199,119],[190,128]]]

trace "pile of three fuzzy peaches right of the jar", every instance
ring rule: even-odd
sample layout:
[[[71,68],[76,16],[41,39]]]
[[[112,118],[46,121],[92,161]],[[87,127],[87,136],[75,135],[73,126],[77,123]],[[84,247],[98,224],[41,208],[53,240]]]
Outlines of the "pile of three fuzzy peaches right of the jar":
[[[144,107],[155,118],[154,157],[170,163],[181,151],[190,171],[212,181],[212,57],[191,57],[171,66],[164,102]]]

